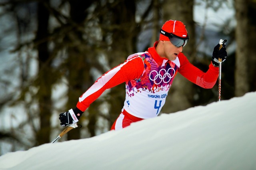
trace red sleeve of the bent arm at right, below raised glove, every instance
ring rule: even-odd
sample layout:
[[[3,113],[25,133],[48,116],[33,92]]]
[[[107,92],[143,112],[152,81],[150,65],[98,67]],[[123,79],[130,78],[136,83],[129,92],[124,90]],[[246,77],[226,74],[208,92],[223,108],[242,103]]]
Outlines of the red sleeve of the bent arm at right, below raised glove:
[[[208,71],[204,73],[192,65],[183,53],[180,53],[178,57],[180,60],[178,72],[186,77],[186,79],[205,89],[210,89],[215,85],[219,76],[218,67],[214,67],[212,63],[210,63]]]

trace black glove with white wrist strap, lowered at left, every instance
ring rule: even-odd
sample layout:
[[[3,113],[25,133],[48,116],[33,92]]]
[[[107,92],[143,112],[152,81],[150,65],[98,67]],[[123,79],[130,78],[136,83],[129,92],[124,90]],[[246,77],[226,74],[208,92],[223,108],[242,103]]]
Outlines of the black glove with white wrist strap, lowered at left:
[[[77,107],[75,109],[70,109],[67,112],[60,113],[60,125],[63,127],[67,127],[72,125],[73,123],[77,123],[80,117],[82,116],[82,111],[80,111]]]

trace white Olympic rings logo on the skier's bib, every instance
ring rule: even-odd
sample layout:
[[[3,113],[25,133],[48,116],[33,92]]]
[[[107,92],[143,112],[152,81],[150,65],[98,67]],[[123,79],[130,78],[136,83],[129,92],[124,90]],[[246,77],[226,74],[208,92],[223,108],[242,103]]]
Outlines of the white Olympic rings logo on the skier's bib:
[[[170,70],[172,71],[173,70],[173,75],[171,75],[170,74]],[[161,74],[161,71],[162,71],[162,73],[163,73],[163,75]],[[152,75],[152,73],[156,73],[156,75],[155,75],[155,77],[152,79],[151,78],[151,75]],[[172,77],[174,77],[174,74],[175,74],[175,70],[171,67],[171,68],[169,68],[167,71],[165,70],[165,69],[160,69],[160,71],[159,71],[159,73],[156,71],[156,70],[153,70],[153,71],[151,71],[150,73],[149,73],[149,79],[150,80],[152,80],[152,81],[154,81],[154,83],[156,84],[156,85],[159,85],[160,83],[162,83],[162,81],[164,82],[164,83],[168,83],[171,79],[172,79]],[[154,75],[153,75],[154,76]],[[168,77],[166,80],[164,80],[166,77]],[[157,79],[160,79],[160,82],[156,82],[156,80]]]

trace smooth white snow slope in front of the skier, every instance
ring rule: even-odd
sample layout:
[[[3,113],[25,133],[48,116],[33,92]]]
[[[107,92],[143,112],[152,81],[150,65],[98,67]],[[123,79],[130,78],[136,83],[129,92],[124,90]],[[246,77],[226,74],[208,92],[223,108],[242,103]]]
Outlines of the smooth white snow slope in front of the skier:
[[[250,92],[92,138],[9,152],[0,170],[256,169],[255,99]]]

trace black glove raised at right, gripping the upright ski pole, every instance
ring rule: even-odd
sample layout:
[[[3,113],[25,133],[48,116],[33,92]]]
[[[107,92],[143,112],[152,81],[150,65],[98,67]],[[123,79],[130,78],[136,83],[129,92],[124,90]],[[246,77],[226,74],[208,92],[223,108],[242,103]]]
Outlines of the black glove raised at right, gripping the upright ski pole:
[[[219,67],[219,58],[222,59],[222,62],[226,60],[226,58],[228,57],[227,51],[226,51],[226,41],[224,40],[223,44],[222,44],[222,48],[220,48],[220,44],[218,43],[212,52],[212,64],[214,65],[214,67]]]

